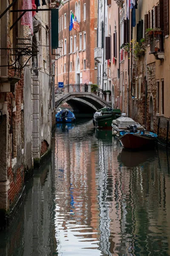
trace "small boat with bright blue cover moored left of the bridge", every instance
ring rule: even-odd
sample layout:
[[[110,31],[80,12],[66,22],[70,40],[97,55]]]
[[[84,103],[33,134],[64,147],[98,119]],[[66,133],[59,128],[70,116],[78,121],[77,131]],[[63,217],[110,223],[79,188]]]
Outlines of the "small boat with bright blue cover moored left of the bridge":
[[[63,109],[59,112],[56,113],[56,122],[74,122],[75,121],[75,116],[74,113],[71,112],[68,109]]]

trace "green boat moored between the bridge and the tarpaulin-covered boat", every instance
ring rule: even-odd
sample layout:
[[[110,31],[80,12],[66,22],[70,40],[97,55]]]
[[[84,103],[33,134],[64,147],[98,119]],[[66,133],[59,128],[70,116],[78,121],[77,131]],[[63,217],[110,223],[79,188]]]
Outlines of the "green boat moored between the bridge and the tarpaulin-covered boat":
[[[120,109],[101,108],[94,113],[93,124],[97,128],[111,129],[112,120],[121,116]]]

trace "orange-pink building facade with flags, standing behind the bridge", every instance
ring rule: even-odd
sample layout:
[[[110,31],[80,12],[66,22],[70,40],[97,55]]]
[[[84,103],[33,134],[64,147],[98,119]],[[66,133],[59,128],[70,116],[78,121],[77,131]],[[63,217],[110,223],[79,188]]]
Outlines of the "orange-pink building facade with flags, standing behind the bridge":
[[[70,28],[71,13],[77,17],[79,30]],[[56,61],[56,83],[97,83],[94,61],[97,29],[97,1],[65,0],[59,8],[59,49]]]

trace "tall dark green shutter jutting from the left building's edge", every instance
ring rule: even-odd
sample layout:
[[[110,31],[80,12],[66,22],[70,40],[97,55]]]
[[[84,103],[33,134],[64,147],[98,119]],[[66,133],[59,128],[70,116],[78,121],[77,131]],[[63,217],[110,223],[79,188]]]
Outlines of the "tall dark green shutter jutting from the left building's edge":
[[[51,9],[51,47],[52,49],[57,49],[59,47],[58,44],[58,24],[59,19],[59,10]]]

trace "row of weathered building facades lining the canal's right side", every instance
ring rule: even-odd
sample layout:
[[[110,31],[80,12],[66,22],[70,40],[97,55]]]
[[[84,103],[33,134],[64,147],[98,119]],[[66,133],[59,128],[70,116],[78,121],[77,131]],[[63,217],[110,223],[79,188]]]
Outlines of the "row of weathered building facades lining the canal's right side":
[[[99,86],[111,90],[113,108],[170,139],[169,0],[103,0],[98,13]]]

